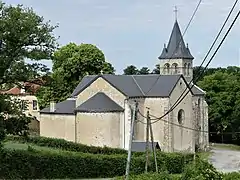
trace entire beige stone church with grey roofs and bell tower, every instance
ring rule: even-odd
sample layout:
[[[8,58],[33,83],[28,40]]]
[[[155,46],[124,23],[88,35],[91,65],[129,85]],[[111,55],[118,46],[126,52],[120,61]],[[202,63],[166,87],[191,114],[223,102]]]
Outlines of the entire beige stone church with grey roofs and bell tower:
[[[166,152],[188,151],[208,146],[208,105],[205,92],[189,86],[193,56],[185,45],[176,21],[167,46],[159,56],[160,74],[89,75],[65,101],[40,111],[40,135],[68,141],[128,149],[132,108],[141,114],[161,117],[185,88],[184,100],[162,120],[152,125],[154,139]],[[146,139],[146,119],[140,114],[134,141]]]

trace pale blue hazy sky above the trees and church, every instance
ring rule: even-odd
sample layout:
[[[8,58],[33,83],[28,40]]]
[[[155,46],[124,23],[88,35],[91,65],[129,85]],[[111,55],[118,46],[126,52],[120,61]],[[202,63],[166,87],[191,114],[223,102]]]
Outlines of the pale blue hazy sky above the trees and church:
[[[90,43],[101,49],[122,74],[128,65],[153,69],[164,43],[168,43],[178,7],[182,32],[199,0],[5,0],[7,4],[32,7],[52,25],[64,46]],[[184,40],[200,65],[235,0],[203,0]],[[238,3],[230,20],[240,8]],[[230,26],[229,21],[228,26]],[[226,32],[226,28],[225,31]],[[235,24],[210,67],[240,66],[240,20]],[[221,36],[222,37],[222,36]],[[220,41],[219,41],[220,42]],[[43,61],[49,67],[51,61]]]

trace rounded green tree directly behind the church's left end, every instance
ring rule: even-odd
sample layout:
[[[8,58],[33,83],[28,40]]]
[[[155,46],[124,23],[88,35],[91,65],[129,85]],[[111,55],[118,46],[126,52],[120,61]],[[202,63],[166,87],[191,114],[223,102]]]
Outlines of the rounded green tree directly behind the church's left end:
[[[65,100],[85,75],[113,74],[114,71],[103,52],[92,44],[69,43],[61,47],[53,55],[52,83],[38,93],[41,108],[50,100]]]

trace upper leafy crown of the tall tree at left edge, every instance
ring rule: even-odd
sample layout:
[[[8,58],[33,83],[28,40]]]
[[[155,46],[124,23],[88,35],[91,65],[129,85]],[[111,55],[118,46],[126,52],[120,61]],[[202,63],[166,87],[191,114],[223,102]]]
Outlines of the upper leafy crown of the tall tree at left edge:
[[[56,27],[22,5],[13,7],[0,2],[0,11],[0,84],[40,75],[37,71],[46,70],[46,66],[24,60],[51,58],[57,46],[52,33]]]

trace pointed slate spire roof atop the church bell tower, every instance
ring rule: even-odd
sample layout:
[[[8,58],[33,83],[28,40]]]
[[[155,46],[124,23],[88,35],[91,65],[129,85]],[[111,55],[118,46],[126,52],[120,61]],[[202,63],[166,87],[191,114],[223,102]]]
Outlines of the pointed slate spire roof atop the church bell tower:
[[[176,21],[168,42],[168,46],[163,48],[159,59],[194,59],[188,47],[185,46],[181,30]]]

